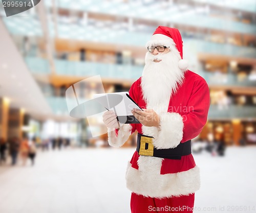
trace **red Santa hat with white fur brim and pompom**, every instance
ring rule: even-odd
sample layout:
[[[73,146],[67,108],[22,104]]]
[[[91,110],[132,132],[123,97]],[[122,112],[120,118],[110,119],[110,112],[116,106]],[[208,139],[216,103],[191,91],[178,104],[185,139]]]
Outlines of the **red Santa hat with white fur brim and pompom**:
[[[180,69],[186,70],[188,67],[188,62],[187,60],[183,59],[182,43],[183,41],[178,29],[159,26],[153,33],[151,40],[146,43],[146,48],[148,46],[164,45],[167,48],[172,49],[172,46],[176,46],[177,50],[180,53],[180,60],[178,66]]]

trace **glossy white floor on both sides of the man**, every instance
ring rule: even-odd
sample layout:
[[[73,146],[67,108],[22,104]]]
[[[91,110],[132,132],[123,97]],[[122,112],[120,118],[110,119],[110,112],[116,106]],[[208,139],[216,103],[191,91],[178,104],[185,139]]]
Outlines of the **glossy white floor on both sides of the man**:
[[[133,152],[55,150],[39,152],[34,167],[30,162],[25,167],[2,165],[0,212],[130,212],[130,192],[124,175]],[[208,153],[194,157],[201,168],[195,212],[256,212],[256,147],[231,147],[225,157]],[[237,211],[236,206],[243,206],[243,210]]]

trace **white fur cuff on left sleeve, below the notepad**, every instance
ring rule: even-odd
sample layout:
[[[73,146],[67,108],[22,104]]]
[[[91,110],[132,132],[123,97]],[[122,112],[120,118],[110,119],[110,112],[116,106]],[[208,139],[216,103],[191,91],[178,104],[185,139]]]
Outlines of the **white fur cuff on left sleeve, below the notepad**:
[[[109,145],[112,147],[121,147],[131,135],[132,126],[130,124],[124,124],[120,126],[118,130],[118,136],[113,129],[108,128]]]

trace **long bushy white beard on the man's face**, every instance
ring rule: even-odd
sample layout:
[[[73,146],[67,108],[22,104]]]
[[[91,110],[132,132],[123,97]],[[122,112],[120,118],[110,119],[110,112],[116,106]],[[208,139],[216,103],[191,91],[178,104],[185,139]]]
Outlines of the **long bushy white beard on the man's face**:
[[[155,59],[162,61],[154,62]],[[166,104],[182,84],[184,72],[178,66],[179,60],[179,53],[177,56],[175,51],[158,55],[146,53],[141,87],[147,106]]]

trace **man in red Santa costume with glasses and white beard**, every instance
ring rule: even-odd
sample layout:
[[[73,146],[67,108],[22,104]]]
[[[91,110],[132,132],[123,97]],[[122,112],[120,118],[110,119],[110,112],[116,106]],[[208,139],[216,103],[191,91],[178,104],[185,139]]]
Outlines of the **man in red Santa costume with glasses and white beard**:
[[[182,46],[180,32],[163,26],[146,43],[142,77],[129,91],[143,109],[133,110],[140,124],[120,125],[113,111],[103,114],[113,147],[121,147],[138,131],[126,172],[132,213],[193,212],[200,176],[190,142],[206,123],[209,88],[187,70]]]

